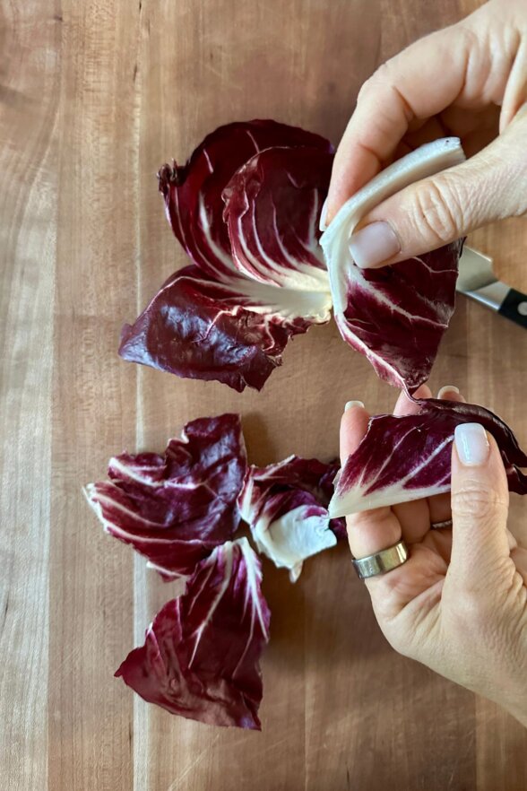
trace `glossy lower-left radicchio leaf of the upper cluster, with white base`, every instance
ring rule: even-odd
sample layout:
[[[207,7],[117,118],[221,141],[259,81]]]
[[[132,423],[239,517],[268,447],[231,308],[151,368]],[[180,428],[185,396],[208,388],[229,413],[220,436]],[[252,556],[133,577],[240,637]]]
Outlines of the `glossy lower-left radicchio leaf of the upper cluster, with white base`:
[[[329,319],[329,293],[277,289],[238,277],[220,283],[187,266],[173,274],[134,325],[119,355],[180,377],[260,390],[291,335]]]

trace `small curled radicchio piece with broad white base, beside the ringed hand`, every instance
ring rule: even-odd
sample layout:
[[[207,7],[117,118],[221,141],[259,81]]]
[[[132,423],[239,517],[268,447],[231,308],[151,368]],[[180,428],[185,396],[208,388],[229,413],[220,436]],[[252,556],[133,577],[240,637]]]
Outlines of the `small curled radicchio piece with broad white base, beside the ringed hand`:
[[[346,535],[344,521],[328,516],[338,462],[289,456],[275,465],[250,466],[239,496],[242,518],[259,552],[295,582],[302,563]]]

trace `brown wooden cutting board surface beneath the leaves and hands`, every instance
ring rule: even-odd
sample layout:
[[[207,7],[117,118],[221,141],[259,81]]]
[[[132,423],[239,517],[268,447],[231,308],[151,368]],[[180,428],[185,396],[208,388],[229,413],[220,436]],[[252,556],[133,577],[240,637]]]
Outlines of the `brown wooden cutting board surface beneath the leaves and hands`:
[[[81,495],[115,451],[243,414],[250,458],[337,450],[346,400],[393,403],[335,327],[298,337],[258,395],[116,354],[124,320],[184,256],[155,172],[215,126],[275,117],[337,142],[359,85],[465,0],[0,0],[0,787],[9,791],[518,791],[511,717],[396,656],[345,546],[296,586],[264,563],[263,733],[149,707],[112,677],[170,596]],[[510,224],[510,223],[509,223]],[[479,233],[527,287],[527,233]],[[527,442],[527,335],[459,300],[432,384]],[[512,525],[525,523],[514,500]]]

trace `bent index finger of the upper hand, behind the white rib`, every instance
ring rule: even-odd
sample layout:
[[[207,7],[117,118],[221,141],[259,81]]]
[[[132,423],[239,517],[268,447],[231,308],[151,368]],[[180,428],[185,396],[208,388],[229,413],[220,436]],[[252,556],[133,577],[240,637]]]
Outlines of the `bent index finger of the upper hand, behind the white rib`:
[[[382,170],[411,122],[462,99],[469,49],[470,37],[461,24],[437,30],[403,49],[364,83],[333,161],[327,223]]]

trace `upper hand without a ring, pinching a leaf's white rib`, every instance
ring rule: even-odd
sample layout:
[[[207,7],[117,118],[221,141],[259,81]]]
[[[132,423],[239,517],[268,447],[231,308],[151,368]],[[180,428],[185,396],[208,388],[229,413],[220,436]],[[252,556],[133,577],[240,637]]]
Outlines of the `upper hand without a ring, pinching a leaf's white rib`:
[[[382,65],[359,91],[336,152],[326,222],[422,143],[461,137],[470,159],[368,213],[350,241],[357,265],[393,264],[527,213],[526,102],[525,0],[492,0]]]

